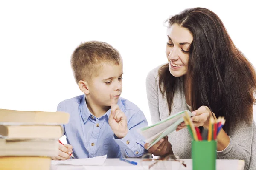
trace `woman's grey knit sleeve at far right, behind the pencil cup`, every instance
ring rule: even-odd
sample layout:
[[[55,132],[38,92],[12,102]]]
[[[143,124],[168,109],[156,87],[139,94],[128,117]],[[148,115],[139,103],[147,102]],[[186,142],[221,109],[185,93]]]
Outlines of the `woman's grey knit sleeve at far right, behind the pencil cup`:
[[[236,127],[229,134],[230,144],[224,150],[217,151],[219,159],[244,160],[244,170],[247,170],[251,158],[253,128],[255,128],[253,120],[250,125],[245,121],[237,123]]]

